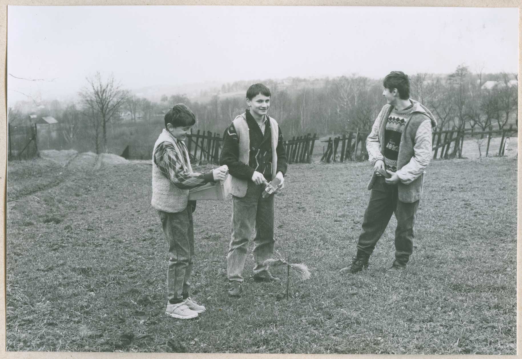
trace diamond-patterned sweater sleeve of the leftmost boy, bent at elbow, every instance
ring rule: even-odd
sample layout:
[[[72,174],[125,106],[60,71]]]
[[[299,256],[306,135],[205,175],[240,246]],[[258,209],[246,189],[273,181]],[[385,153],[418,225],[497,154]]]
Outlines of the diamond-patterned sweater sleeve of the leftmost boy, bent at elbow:
[[[182,159],[174,146],[162,142],[154,153],[154,163],[159,167],[163,176],[167,177],[174,186],[182,190],[203,186],[213,182],[212,172],[197,173],[184,170]]]

